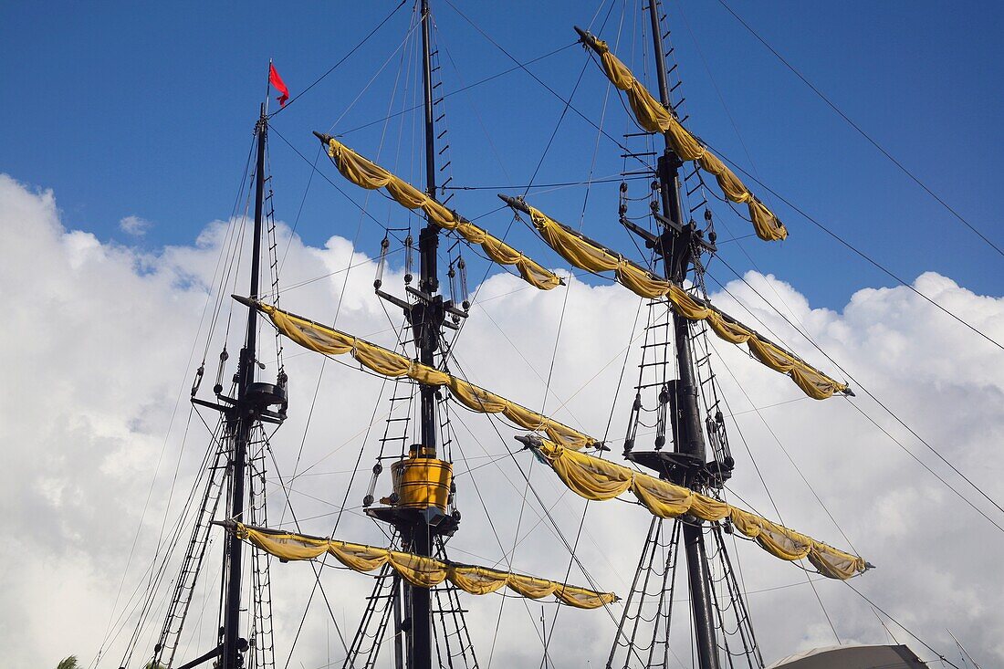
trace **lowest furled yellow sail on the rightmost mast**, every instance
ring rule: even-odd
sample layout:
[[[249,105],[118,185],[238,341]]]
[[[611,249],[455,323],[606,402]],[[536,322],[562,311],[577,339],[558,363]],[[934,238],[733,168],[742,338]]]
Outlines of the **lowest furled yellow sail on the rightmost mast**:
[[[771,554],[787,561],[808,558],[820,574],[830,579],[846,580],[864,572],[866,568],[864,561],[857,555],[837,550],[776,522],[681,485],[562,448],[546,440],[541,440],[534,446],[534,450],[547,461],[572,492],[586,499],[612,499],[631,490],[649,511],[662,518],[675,518],[685,513],[711,521],[728,517],[736,529],[755,539]]]

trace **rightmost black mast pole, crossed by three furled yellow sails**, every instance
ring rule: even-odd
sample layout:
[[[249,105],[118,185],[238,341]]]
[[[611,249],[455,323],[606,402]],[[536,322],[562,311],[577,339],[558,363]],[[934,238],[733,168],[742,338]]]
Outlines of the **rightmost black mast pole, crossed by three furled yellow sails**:
[[[663,31],[659,21],[657,0],[649,0],[649,17],[652,21],[652,38],[656,51],[656,71],[659,75],[659,95],[670,114],[673,105],[670,99],[670,87],[666,77],[666,51],[663,46]],[[680,204],[680,167],[683,162],[673,151],[670,140],[665,135],[665,150],[659,158],[658,179],[662,196],[663,216],[669,219],[667,232],[660,237],[657,246],[663,256],[666,277],[674,283],[683,286],[690,269],[692,249],[697,239],[693,221],[685,224]],[[680,368],[680,380],[676,387],[675,417],[679,417],[680,425],[675,431],[674,451],[688,460],[692,460],[696,468],[703,468],[707,456],[705,453],[704,434],[701,428],[701,417],[698,413],[697,386],[694,383],[694,363],[691,357],[690,322],[680,313],[673,312],[673,329],[677,350],[677,364]],[[689,471],[693,472],[694,469]],[[678,481],[692,485],[695,477],[686,475],[686,479]],[[708,585],[710,572],[708,555],[704,545],[704,530],[699,524],[685,523],[683,526],[684,544],[687,552],[687,573],[690,581],[691,608],[694,614],[694,632],[697,643],[698,662],[701,669],[719,669],[718,644],[715,640],[715,624],[711,605],[711,592]]]

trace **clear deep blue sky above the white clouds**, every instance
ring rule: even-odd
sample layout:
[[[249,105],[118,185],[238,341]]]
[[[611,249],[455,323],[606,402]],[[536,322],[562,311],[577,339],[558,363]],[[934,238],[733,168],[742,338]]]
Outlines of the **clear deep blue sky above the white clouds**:
[[[1004,132],[998,123],[1002,93],[996,85],[1004,80],[999,44],[1004,6],[730,4],[891,153],[1004,245],[995,201],[1004,178],[999,155]],[[295,95],[393,7],[387,2],[292,7],[8,3],[0,9],[7,99],[0,110],[0,171],[54,189],[67,224],[100,239],[155,251],[165,244],[192,243],[207,222],[230,214],[268,58],[275,59]],[[527,60],[570,45],[572,24],[589,24],[595,7],[580,2],[472,3],[461,10],[515,57]],[[1000,294],[1004,259],[839,120],[717,2],[686,0],[667,7],[684,79],[678,90],[687,97],[692,131],[904,278],[936,270],[977,292]],[[608,8],[602,6],[594,28]],[[617,42],[619,25],[616,51],[641,76],[648,50],[643,53],[644,40],[635,31],[643,25],[636,17],[644,16],[638,7],[624,14],[621,8],[621,3],[613,7],[600,36]],[[442,46],[442,90],[456,90],[512,66],[449,4],[434,2],[434,13]],[[327,131],[340,118],[333,130],[346,133],[346,144],[371,158],[380,156],[389,168],[421,184],[421,138],[412,133],[419,122],[416,115],[400,116],[389,125],[383,150],[382,124],[347,132],[383,119],[388,108],[400,110],[408,105],[403,100],[417,92],[414,64],[408,63],[413,62],[418,33],[396,51],[410,21],[407,5],[349,60],[278,115],[274,129],[312,159],[317,145],[310,131]],[[408,57],[400,65],[403,52]],[[585,57],[580,48],[569,47],[530,68],[568,96]],[[605,78],[588,63],[572,103],[598,123],[605,90]],[[525,185],[562,106],[522,71],[449,96],[450,149],[445,155],[453,162],[444,174],[452,172],[454,185]],[[634,130],[614,97],[603,127],[618,139]],[[642,149],[638,140],[630,146]],[[594,176],[612,175],[622,167],[619,154],[609,140],[597,142],[595,129],[568,112],[535,183],[580,181],[594,156]],[[355,235],[357,209],[323,179],[315,178],[306,190],[309,166],[278,137],[273,137],[270,159],[279,218],[296,220],[303,199],[297,232],[307,243],[320,244],[331,234]],[[363,201],[364,194],[343,182],[326,159],[318,166],[356,202]],[[739,243],[723,245],[723,257],[734,268],[742,271],[755,262],[762,271],[792,282],[814,305],[831,307],[844,304],[857,288],[893,284],[762,188],[751,186],[775,207],[790,238],[783,244],[745,239],[739,242],[745,253]],[[628,251],[632,242],[616,223],[615,189],[616,184],[593,186],[582,229]],[[474,218],[497,207],[494,192],[459,192],[450,204]],[[631,195],[644,192],[644,182],[632,183]],[[528,199],[574,225],[583,211],[583,194],[582,188],[536,196],[531,191]],[[382,221],[407,220],[383,200],[371,198],[370,203]],[[748,223],[728,209],[717,205],[715,212],[721,238],[749,232]],[[130,236],[117,225],[127,216],[150,220],[153,227],[143,238]],[[499,232],[510,221],[505,211],[479,219]],[[362,225],[361,250],[374,253],[383,233],[371,221]],[[417,228],[417,221],[413,225]],[[521,226],[513,226],[507,239],[545,264],[562,266]],[[722,266],[712,270],[723,282],[733,278]]]

